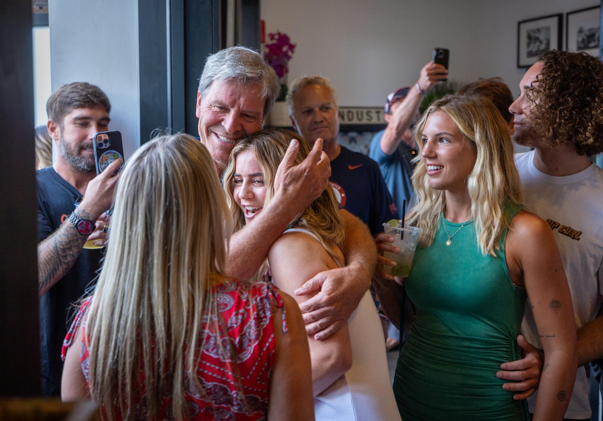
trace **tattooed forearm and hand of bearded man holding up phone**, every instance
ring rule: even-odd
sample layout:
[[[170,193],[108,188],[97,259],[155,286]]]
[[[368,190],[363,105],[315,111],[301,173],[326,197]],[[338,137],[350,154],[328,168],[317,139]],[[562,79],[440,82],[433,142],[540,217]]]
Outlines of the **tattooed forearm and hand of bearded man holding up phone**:
[[[113,192],[119,174],[115,170],[123,163],[113,161],[102,173],[88,183],[86,195],[75,214],[81,219],[95,221],[113,202]],[[38,293],[43,296],[74,265],[88,236],[81,235],[70,220],[63,224],[48,239],[37,247]]]

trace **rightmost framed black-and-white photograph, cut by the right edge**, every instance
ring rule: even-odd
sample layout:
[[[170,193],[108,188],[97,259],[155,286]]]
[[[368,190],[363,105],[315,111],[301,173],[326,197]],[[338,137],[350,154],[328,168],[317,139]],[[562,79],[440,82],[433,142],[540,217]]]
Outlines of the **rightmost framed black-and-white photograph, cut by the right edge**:
[[[566,14],[566,51],[587,52],[599,57],[601,7],[589,7]]]

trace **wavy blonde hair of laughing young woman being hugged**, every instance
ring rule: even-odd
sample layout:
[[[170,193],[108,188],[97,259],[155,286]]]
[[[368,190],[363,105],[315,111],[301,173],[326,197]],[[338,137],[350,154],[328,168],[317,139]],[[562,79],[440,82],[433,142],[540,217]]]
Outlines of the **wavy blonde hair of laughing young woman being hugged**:
[[[257,159],[257,163],[262,169],[264,175],[264,184],[266,186],[266,196],[264,199],[264,208],[270,204],[274,196],[274,178],[279,168],[280,161],[285,157],[285,152],[292,139],[299,142],[299,152],[295,157],[294,165],[300,164],[310,153],[310,147],[306,139],[299,134],[285,129],[264,129],[248,139],[241,140],[230,152],[230,158],[226,170],[224,170],[223,189],[226,193],[226,203],[230,209],[230,214],[235,222],[235,231],[245,227],[245,216],[241,207],[236,203],[233,196],[236,157],[241,152],[251,151]],[[312,202],[291,222],[291,228],[305,228],[313,232],[320,239],[320,243],[329,253],[330,257],[336,263],[343,265],[335,253],[335,246],[341,248],[344,242],[344,222],[339,216],[339,207],[335,199],[335,194],[330,187]],[[264,280],[264,273],[268,266],[268,260],[265,260],[256,273],[253,281]]]

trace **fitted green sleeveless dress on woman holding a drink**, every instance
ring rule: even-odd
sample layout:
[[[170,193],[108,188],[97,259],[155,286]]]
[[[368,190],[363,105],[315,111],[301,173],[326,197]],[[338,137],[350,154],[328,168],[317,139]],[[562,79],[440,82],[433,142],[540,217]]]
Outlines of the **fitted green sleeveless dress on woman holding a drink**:
[[[521,209],[505,207],[508,220]],[[529,420],[496,378],[500,364],[520,358],[516,343],[526,301],[505,263],[505,229],[497,257],[482,255],[475,224],[440,218],[434,242],[419,248],[405,279],[415,317],[394,377],[404,421]]]

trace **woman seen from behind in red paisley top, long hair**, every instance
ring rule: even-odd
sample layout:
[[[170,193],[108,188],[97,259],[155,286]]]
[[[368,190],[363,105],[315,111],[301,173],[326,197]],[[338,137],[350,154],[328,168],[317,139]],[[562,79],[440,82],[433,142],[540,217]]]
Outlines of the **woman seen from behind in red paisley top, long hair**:
[[[110,420],[314,419],[300,311],[226,276],[230,221],[197,140],[136,151],[96,290],[65,340],[63,400],[90,396]]]

